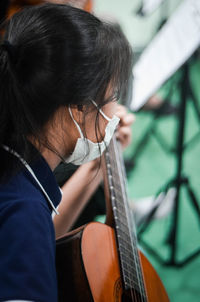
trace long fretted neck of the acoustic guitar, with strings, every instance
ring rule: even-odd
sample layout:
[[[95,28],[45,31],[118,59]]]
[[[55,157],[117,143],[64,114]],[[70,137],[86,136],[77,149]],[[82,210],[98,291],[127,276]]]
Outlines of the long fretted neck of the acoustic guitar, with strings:
[[[105,151],[105,160],[123,285],[125,290],[139,292],[146,301],[135,223],[127,198],[125,167],[121,146],[115,137]]]

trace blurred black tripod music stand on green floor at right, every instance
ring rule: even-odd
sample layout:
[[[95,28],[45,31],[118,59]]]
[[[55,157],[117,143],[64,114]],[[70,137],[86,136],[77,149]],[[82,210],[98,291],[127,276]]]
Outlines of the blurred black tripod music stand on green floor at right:
[[[182,261],[178,261],[176,259],[177,256],[177,235],[178,235],[178,223],[179,223],[179,208],[180,208],[180,189],[182,186],[185,186],[187,189],[187,193],[189,196],[189,200],[194,207],[197,218],[200,222],[200,206],[197,202],[197,198],[190,186],[190,182],[187,176],[183,175],[182,173],[182,166],[183,166],[183,154],[184,151],[189,143],[194,140],[194,138],[186,145],[184,142],[184,130],[185,130],[185,123],[186,123],[186,106],[187,106],[187,100],[190,98],[190,100],[193,103],[193,106],[195,108],[198,120],[200,122],[200,109],[198,106],[198,102],[193,94],[193,91],[190,86],[190,80],[189,80],[189,63],[186,62],[183,66],[183,76],[181,80],[181,89],[180,89],[180,107],[179,107],[179,113],[178,113],[178,133],[177,133],[177,145],[176,145],[176,173],[175,177],[168,181],[168,183],[164,186],[163,190],[160,190],[162,192],[167,192],[170,187],[174,187],[176,189],[176,197],[174,202],[174,209],[173,209],[173,220],[172,220],[172,226],[171,230],[167,239],[167,243],[169,243],[171,250],[170,250],[170,257],[166,261],[162,258],[161,255],[159,255],[158,252],[156,252],[149,244],[147,244],[142,239],[142,233],[149,227],[149,225],[153,222],[153,216],[158,209],[159,206],[155,206],[154,209],[151,211],[151,213],[148,215],[148,217],[143,221],[142,226],[138,230],[138,239],[143,244],[143,246],[149,250],[159,262],[165,265],[173,265],[177,267],[181,267],[188,262],[190,262],[192,259],[194,259],[197,255],[200,254],[200,249],[197,249],[195,252],[193,252],[191,255],[187,256]],[[198,133],[199,135],[199,133]],[[196,139],[197,136],[195,136]]]

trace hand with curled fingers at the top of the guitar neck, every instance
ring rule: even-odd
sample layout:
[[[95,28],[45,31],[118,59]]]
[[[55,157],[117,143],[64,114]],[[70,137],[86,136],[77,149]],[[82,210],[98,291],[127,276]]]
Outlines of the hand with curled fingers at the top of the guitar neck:
[[[126,107],[122,105],[117,106],[116,115],[120,118],[116,137],[121,142],[122,148],[125,149],[132,140],[131,125],[135,121],[135,116],[132,113],[128,113]]]

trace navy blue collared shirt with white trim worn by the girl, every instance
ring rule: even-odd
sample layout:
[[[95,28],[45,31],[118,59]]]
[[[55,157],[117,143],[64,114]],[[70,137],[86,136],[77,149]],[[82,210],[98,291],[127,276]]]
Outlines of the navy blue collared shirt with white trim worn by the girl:
[[[56,207],[61,193],[48,164],[40,158],[31,168]],[[26,168],[0,185],[0,301],[57,301],[51,214]]]

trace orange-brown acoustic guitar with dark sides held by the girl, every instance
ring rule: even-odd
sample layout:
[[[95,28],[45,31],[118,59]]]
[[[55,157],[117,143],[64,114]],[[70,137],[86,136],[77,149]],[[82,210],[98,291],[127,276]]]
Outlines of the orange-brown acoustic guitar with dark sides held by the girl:
[[[138,251],[119,143],[105,152],[106,224],[91,222],[59,238],[56,267],[59,302],[166,302],[157,273]]]

